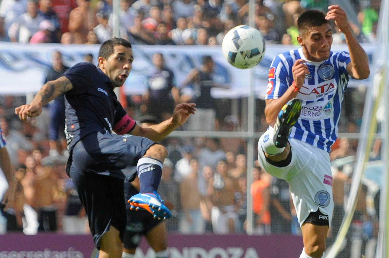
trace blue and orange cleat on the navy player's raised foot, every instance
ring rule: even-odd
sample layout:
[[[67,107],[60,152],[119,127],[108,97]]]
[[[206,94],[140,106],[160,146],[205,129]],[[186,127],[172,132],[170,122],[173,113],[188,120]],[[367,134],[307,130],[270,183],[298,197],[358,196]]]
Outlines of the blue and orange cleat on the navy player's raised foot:
[[[166,220],[172,216],[172,213],[165,206],[165,202],[156,191],[152,194],[135,194],[131,196],[128,203],[131,205],[130,209],[135,209],[136,211],[145,209],[158,220]]]

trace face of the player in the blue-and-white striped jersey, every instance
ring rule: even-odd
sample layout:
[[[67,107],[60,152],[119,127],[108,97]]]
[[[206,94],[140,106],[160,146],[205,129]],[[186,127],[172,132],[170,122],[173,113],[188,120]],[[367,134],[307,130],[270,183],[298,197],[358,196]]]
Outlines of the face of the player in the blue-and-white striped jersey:
[[[329,24],[314,26],[308,29],[306,35],[298,37],[303,47],[305,58],[309,61],[320,62],[329,58],[332,45],[332,30]]]

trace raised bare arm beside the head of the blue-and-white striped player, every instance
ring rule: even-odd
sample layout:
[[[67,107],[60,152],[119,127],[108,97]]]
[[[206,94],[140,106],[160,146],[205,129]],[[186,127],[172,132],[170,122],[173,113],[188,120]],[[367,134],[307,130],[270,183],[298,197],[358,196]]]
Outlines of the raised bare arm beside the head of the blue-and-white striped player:
[[[326,19],[334,20],[336,26],[343,32],[346,38],[351,59],[351,62],[346,67],[347,72],[354,79],[363,80],[368,78],[370,75],[368,56],[354,37],[345,11],[339,5],[330,5],[328,9]]]

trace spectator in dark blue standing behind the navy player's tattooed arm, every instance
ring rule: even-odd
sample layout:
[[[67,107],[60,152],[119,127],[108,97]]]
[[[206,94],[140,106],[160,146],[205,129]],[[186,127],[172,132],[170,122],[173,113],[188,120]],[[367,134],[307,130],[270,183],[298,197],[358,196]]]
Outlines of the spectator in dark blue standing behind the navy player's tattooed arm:
[[[53,51],[51,54],[51,67],[46,71],[46,82],[56,80],[60,78],[67,67],[63,63],[62,53],[60,51]],[[49,103],[49,127],[47,131],[49,132],[49,156],[45,157],[42,160],[44,164],[53,164],[53,162],[61,162],[65,164],[67,162],[68,153],[67,153],[67,143],[65,137],[65,96],[61,94],[56,97],[51,103]]]

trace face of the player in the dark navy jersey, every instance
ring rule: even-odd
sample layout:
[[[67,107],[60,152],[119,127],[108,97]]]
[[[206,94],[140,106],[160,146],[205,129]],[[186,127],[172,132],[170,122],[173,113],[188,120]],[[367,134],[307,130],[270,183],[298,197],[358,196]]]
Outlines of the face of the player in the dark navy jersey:
[[[130,74],[133,60],[134,56],[130,47],[116,45],[113,54],[108,59],[99,60],[99,67],[110,78],[114,87],[121,87]]]

